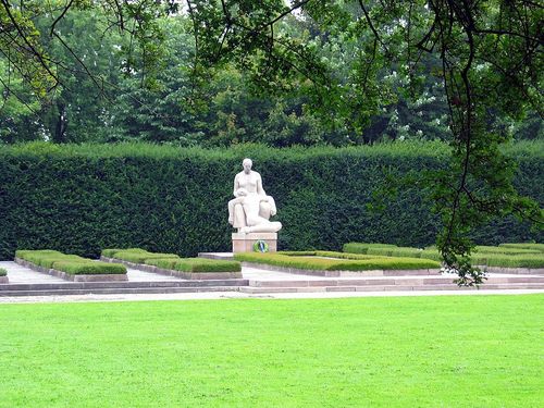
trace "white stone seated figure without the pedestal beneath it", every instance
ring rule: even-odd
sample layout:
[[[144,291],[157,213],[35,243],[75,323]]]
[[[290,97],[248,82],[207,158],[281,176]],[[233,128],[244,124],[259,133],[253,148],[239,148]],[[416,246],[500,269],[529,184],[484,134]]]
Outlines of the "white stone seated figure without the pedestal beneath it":
[[[228,201],[228,223],[238,233],[276,233],[282,223],[269,221],[275,215],[275,201],[262,188],[261,175],[251,170],[251,159],[244,159],[244,171],[234,177],[234,197]]]

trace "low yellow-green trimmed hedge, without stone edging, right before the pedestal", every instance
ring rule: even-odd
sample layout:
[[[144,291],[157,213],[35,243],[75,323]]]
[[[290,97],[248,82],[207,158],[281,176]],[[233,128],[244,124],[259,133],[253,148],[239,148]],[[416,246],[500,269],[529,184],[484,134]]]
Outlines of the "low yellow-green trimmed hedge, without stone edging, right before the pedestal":
[[[330,252],[331,254],[331,252]],[[334,254],[334,252],[332,252]],[[283,268],[319,271],[370,271],[437,269],[440,263],[428,259],[413,258],[371,258],[371,259],[330,259],[314,256],[290,256],[285,254],[235,254],[234,259],[245,262],[265,263]]]

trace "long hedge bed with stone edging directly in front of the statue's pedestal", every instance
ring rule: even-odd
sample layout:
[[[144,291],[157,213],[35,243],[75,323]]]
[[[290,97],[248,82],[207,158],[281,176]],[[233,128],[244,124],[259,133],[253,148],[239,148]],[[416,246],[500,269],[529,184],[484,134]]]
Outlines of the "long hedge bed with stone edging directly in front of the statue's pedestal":
[[[235,254],[234,259],[289,273],[321,276],[437,274],[440,263],[429,259],[387,258],[333,251],[285,251]],[[395,271],[395,273],[393,273]]]

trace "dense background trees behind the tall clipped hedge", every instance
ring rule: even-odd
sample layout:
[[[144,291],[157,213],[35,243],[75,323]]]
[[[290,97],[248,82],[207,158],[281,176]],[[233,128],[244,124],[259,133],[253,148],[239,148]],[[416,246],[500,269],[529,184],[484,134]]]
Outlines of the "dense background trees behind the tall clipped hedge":
[[[10,3],[11,16],[5,9]],[[113,10],[109,1],[70,2],[66,13],[62,13],[66,5],[62,1],[50,3],[58,8],[53,11],[38,0],[7,1],[0,8],[4,27],[0,32],[0,143],[47,138],[58,143],[152,140],[182,146],[243,141],[344,146],[381,139],[449,137],[440,59],[424,55],[417,71],[392,61],[393,49],[387,55],[372,59],[371,30],[363,24],[348,23],[350,15],[362,17],[354,4],[338,2],[321,9],[310,2],[299,11],[304,18],[287,15],[275,24],[276,35],[284,40],[294,38],[294,49],[299,53],[289,55],[284,50],[274,57],[280,61],[295,57],[302,67],[313,58],[314,67],[331,72],[330,81],[337,89],[330,91],[330,97],[342,94],[345,106],[335,106],[334,113],[323,115],[316,112],[316,107],[323,99],[332,102],[323,95],[318,100],[312,95],[317,75],[308,73],[310,81],[286,75],[268,84],[268,89],[256,87],[255,83],[262,85],[274,69],[284,69],[288,74],[288,64],[282,67],[279,62],[280,66],[256,72],[255,66],[267,59],[256,58],[252,64],[227,63],[225,60],[239,54],[228,54],[239,42],[225,42],[222,50],[213,44],[217,38],[197,33],[194,20],[178,13],[174,2],[116,2]],[[251,23],[284,7],[272,3],[252,4],[256,10],[269,12],[260,17],[257,13]],[[200,7],[209,14],[200,15]],[[233,23],[235,9],[231,10]],[[401,12],[396,9],[393,14]],[[221,16],[212,17],[212,13],[222,11],[219,4],[194,4],[193,11],[195,16],[208,20],[206,25],[219,35]],[[21,23],[18,30],[11,17]],[[112,18],[121,21],[112,24]],[[420,15],[419,20],[425,18],[429,15]],[[416,30],[422,24],[419,20],[411,22],[411,36],[420,34]],[[395,27],[396,33],[388,38],[392,42],[399,40],[403,30],[400,24]],[[47,58],[33,54],[23,39],[25,35],[34,51]],[[212,62],[220,62],[220,66],[199,66],[199,57],[210,57],[210,50],[206,46],[197,48],[195,35],[203,37],[199,38],[203,44],[212,41],[207,46],[215,49],[217,55],[211,58],[217,57]],[[307,45],[306,52],[301,44]],[[400,49],[396,51],[403,55]],[[366,69],[366,63],[361,58],[382,65],[369,69],[363,91],[360,70]],[[50,69],[52,61],[55,70]],[[374,75],[379,86],[372,84]],[[524,121],[495,115],[489,124],[491,131],[518,139],[542,138],[544,126],[537,112],[529,111]]]

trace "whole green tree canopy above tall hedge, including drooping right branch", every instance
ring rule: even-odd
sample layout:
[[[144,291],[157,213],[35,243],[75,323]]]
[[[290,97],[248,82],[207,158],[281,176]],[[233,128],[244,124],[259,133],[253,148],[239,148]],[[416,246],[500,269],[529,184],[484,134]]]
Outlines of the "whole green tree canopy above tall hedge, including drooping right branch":
[[[119,134],[102,126],[111,140],[227,145],[259,129],[280,146],[342,145],[372,141],[372,132],[433,133],[450,141],[452,162],[417,182],[435,187],[437,244],[461,283],[482,280],[467,257],[471,228],[512,212],[542,226],[539,206],[511,187],[515,163],[500,151],[521,119],[542,120],[539,2],[0,1],[0,86],[13,125],[40,103],[55,107],[57,141],[67,141],[66,116],[82,109],[119,124]],[[81,24],[99,35],[71,38]],[[102,102],[70,92],[83,76]],[[249,119],[263,111],[254,126]],[[134,120],[123,124],[123,112]]]

